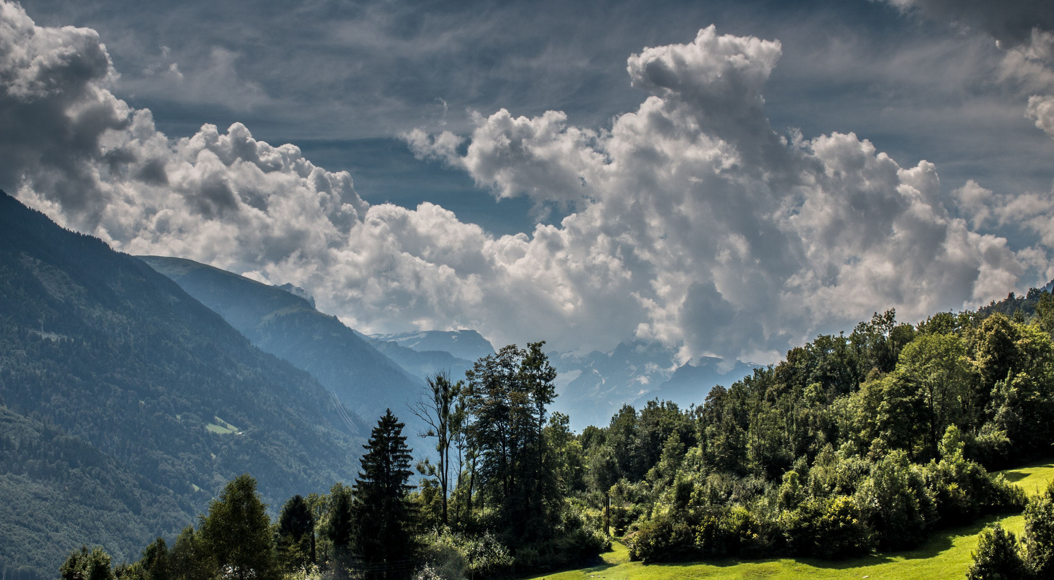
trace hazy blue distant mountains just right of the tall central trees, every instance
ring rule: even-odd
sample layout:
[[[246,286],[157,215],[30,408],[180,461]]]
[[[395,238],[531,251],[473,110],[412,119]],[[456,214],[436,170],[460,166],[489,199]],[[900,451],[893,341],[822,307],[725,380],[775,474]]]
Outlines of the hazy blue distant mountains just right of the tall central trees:
[[[701,405],[717,384],[730,384],[749,374],[757,365],[736,361],[722,372],[720,359],[700,357],[694,366],[678,366],[677,351],[659,342],[620,343],[609,352],[584,355],[549,352],[560,397],[552,409],[570,415],[571,427],[605,426],[622,405],[640,407],[659,398],[682,407]]]

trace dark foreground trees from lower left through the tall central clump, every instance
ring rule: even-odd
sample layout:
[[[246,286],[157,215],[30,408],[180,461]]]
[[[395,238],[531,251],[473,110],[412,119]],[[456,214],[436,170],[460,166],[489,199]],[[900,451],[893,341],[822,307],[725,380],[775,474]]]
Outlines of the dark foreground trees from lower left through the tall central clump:
[[[85,546],[67,557],[62,578],[465,578],[593,556],[608,539],[568,501],[574,436],[566,415],[547,411],[557,373],[543,345],[502,348],[465,381],[428,381],[412,411],[430,426],[419,434],[434,439],[435,463],[412,465],[405,424],[389,409],[352,485],[294,496],[272,522],[256,481],[242,475],[171,547],[158,538],[139,561],[113,566],[101,548]],[[418,486],[410,484],[414,467]]]

